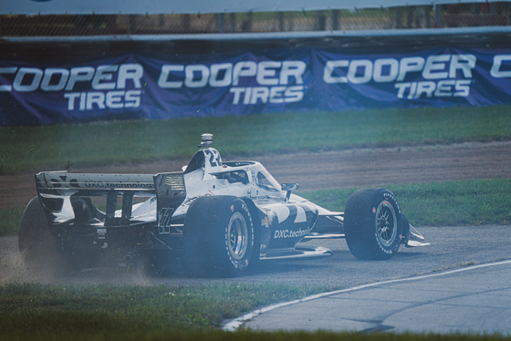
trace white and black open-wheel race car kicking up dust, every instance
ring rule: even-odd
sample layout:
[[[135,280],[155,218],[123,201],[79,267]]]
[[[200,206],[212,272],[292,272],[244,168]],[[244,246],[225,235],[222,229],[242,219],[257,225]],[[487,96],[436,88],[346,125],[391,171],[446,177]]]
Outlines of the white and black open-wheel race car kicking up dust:
[[[257,262],[332,254],[300,243],[309,239],[345,238],[362,260],[427,244],[391,191],[355,191],[345,212],[330,212],[259,162],[223,161],[212,143],[203,134],[183,171],[37,173],[37,197],[19,230],[25,263],[40,270],[43,263],[63,269],[144,260],[161,274],[179,262],[191,274],[235,276]]]

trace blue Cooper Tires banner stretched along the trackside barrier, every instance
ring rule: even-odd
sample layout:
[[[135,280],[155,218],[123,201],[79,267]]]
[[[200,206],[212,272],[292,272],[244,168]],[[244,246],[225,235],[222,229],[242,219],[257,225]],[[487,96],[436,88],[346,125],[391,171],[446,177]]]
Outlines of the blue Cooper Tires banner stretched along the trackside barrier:
[[[511,48],[0,59],[0,125],[511,103]]]

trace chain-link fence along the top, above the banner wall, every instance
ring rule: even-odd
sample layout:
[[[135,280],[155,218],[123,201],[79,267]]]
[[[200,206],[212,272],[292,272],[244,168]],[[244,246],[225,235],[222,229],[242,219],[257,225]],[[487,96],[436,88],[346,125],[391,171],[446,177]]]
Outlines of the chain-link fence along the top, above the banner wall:
[[[0,36],[97,36],[508,26],[511,2],[197,15],[0,15]]]

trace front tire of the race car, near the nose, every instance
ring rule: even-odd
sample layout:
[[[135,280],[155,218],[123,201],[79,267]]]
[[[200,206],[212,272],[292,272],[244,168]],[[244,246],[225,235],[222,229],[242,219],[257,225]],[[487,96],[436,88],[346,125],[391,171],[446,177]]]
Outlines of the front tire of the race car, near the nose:
[[[349,251],[361,260],[385,260],[401,245],[400,205],[391,191],[367,189],[349,196],[344,233]]]

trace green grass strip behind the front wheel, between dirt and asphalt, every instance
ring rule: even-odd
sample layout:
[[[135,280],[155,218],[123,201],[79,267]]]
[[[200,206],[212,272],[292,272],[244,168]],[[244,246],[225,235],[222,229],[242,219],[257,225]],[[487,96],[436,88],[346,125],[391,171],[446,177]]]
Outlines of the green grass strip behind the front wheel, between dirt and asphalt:
[[[511,224],[511,179],[388,186],[414,226]],[[297,194],[331,211],[343,211],[356,189]],[[0,210],[0,236],[16,234],[23,209]]]

